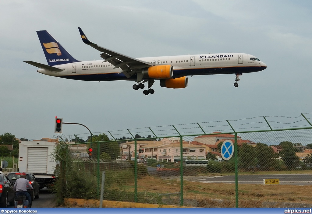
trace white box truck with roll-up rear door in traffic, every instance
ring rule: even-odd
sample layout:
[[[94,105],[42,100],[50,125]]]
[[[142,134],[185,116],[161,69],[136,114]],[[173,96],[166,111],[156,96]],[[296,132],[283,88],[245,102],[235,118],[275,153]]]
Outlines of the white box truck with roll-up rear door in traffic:
[[[56,145],[56,142],[49,141],[21,141],[19,144],[19,172],[33,173],[40,188],[49,187],[55,180],[53,154]]]

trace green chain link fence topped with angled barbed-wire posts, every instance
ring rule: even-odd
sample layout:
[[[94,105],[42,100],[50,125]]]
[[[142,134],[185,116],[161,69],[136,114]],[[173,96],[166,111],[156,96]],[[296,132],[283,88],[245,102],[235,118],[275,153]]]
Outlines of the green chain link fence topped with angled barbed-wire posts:
[[[100,134],[93,142],[60,143],[57,195],[100,199],[105,171],[104,200],[190,207],[311,206],[312,125],[310,118],[302,118],[148,127]],[[103,136],[108,140],[100,141]],[[224,142],[232,142],[232,149],[222,148]],[[232,158],[224,160],[225,153]]]

